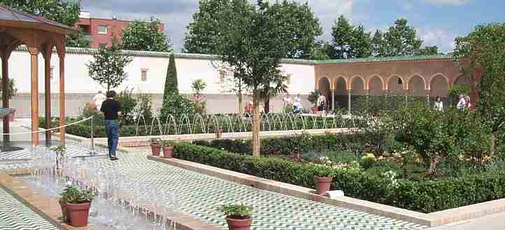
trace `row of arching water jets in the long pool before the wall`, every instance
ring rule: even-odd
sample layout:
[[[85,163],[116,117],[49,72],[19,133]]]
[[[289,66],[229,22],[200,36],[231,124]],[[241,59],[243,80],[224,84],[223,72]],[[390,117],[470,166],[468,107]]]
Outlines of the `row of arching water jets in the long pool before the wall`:
[[[360,118],[348,115],[316,116],[294,113],[262,114],[261,131],[291,131],[301,129],[340,129],[357,127]],[[247,132],[252,130],[250,114],[206,115],[183,114],[153,117],[150,123],[142,115],[136,118],[135,136],[181,134],[214,134]]]

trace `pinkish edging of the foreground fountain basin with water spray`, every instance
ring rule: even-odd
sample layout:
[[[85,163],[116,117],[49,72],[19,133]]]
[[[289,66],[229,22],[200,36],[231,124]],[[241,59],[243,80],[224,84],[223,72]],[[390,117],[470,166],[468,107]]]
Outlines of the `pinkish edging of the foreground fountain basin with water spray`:
[[[10,175],[0,171],[0,187],[60,229],[100,230],[89,226],[76,228],[65,224],[60,220],[62,213],[58,201],[56,199],[48,199],[46,196],[34,193],[34,191],[25,185],[20,178],[12,178]],[[177,222],[178,230],[221,230],[214,225],[205,224],[200,220],[180,213],[170,213],[169,218]]]

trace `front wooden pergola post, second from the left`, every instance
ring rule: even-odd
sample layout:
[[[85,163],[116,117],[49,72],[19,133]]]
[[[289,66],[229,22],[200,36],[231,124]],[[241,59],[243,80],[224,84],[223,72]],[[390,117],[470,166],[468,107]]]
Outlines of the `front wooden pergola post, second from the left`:
[[[31,63],[31,131],[38,130],[38,48],[29,47]],[[38,145],[38,133],[31,134],[31,145]]]

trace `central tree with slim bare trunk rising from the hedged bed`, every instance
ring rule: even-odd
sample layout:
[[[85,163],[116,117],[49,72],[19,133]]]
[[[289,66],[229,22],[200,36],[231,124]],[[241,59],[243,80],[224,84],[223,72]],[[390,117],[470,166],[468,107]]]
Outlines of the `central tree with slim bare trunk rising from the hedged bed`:
[[[274,20],[268,2],[259,0],[257,6],[251,6],[247,0],[232,0],[231,3],[232,7],[220,15],[227,18],[227,23],[221,24],[218,55],[252,89],[252,153],[259,156],[261,90],[283,84],[282,78],[278,77],[281,74],[280,59],[288,50],[285,41],[290,35],[283,34],[279,25],[282,22]]]

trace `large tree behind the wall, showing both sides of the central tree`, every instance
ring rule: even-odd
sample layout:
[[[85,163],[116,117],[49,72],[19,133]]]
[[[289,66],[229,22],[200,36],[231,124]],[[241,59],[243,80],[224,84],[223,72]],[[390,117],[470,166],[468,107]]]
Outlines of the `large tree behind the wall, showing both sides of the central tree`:
[[[184,52],[216,54],[216,41],[227,30],[229,15],[223,15],[242,4],[247,8],[248,2],[236,3],[231,0],[200,0],[199,10],[193,15],[193,22],[188,24],[184,39]],[[283,57],[309,58],[313,53],[315,37],[322,34],[317,17],[307,3],[295,1],[278,1],[265,6],[273,20],[278,20],[278,36],[286,39],[288,46]],[[245,15],[240,16],[245,17]]]

